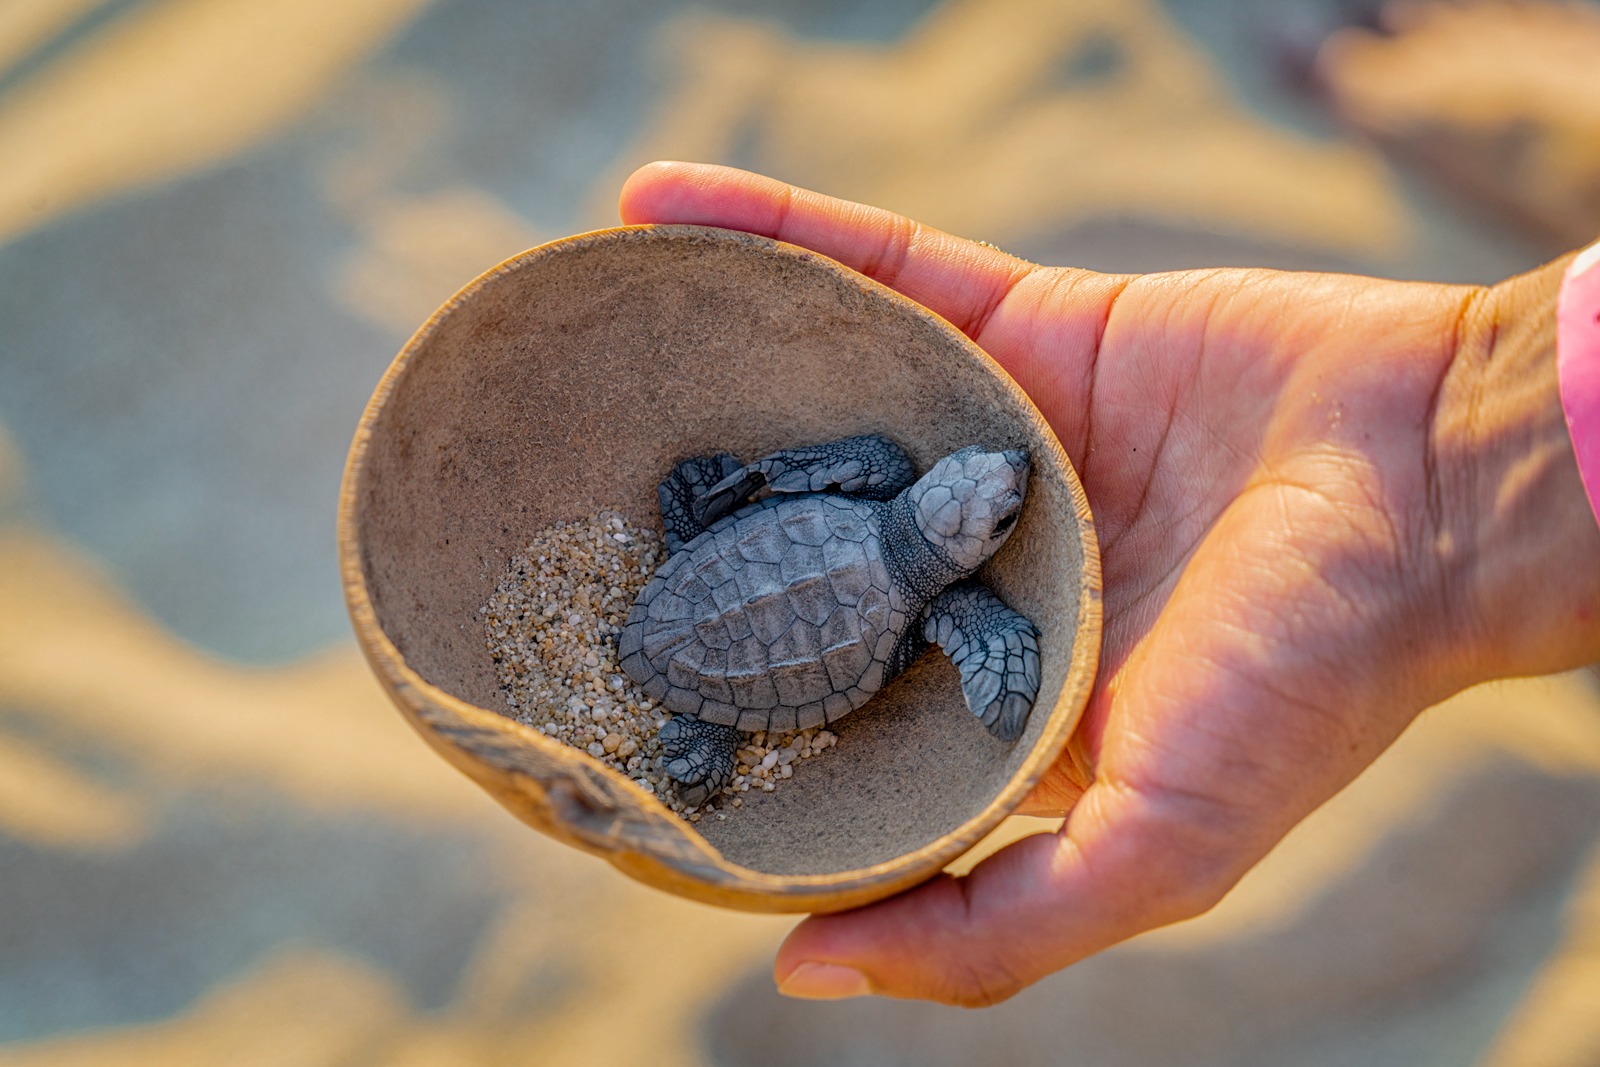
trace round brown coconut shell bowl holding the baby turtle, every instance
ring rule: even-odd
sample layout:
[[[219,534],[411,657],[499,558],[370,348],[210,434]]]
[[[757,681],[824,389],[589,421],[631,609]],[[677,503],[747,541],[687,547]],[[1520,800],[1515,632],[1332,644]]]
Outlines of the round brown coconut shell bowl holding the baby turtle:
[[[981,571],[1042,630],[1014,744],[966,710],[938,649],[838,742],[725,819],[690,824],[586,752],[506,713],[480,608],[530,537],[616,509],[659,530],[685,456],[880,432],[926,470],[1027,448],[1027,502]],[[1027,397],[938,315],[840,264],[704,227],[624,227],[526,251],[405,346],[350,448],[339,514],[357,638],[395,704],[515,816],[653,886],[763,912],[909,888],[1011,813],[1062,752],[1099,654],[1083,490]]]

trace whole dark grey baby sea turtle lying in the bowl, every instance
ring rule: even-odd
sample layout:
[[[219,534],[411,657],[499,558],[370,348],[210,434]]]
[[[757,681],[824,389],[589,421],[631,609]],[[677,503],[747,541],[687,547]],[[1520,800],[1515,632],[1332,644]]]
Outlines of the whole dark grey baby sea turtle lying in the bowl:
[[[670,555],[618,640],[622,669],[675,712],[661,741],[680,798],[726,784],[739,731],[832,723],[930,643],[989,733],[1016,741],[1038,630],[968,576],[1016,526],[1027,467],[973,446],[914,478],[878,435],[680,462],[658,490]]]

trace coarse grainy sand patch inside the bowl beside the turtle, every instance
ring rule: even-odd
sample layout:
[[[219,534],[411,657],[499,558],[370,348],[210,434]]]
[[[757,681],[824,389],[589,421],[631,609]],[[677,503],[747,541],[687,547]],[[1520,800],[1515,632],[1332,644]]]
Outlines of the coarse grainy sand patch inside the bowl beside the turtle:
[[[661,536],[614,510],[541,530],[483,605],[485,645],[510,718],[627,774],[691,822],[725,819],[744,805],[741,793],[773,792],[837,737],[829,729],[749,734],[723,792],[699,809],[683,806],[656,736],[670,712],[616,656],[627,613],[664,560]]]

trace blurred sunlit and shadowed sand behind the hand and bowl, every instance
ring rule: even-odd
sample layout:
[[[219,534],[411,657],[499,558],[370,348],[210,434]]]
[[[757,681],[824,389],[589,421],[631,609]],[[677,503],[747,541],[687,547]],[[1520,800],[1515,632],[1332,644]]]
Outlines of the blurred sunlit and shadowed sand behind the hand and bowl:
[[[1110,270],[1600,232],[1594,6],[1318,53],[1370,6],[0,0],[0,1064],[1600,1064],[1587,673],[1429,712],[1214,913],[962,1013],[778,998],[790,920],[520,827],[344,621],[389,358],[651,158]]]

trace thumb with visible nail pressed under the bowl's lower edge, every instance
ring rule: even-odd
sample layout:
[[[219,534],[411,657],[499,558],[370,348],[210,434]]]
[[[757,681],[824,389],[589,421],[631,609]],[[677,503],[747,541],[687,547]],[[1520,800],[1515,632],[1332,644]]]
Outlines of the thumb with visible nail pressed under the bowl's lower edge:
[[[1205,838],[1205,840],[1202,840]],[[1061,833],[1000,849],[878,904],[800,923],[778,952],[779,992],[982,1006],[1210,909],[1251,856],[1190,835],[1174,811],[1098,782]],[[1237,849],[1235,849],[1237,851]]]

